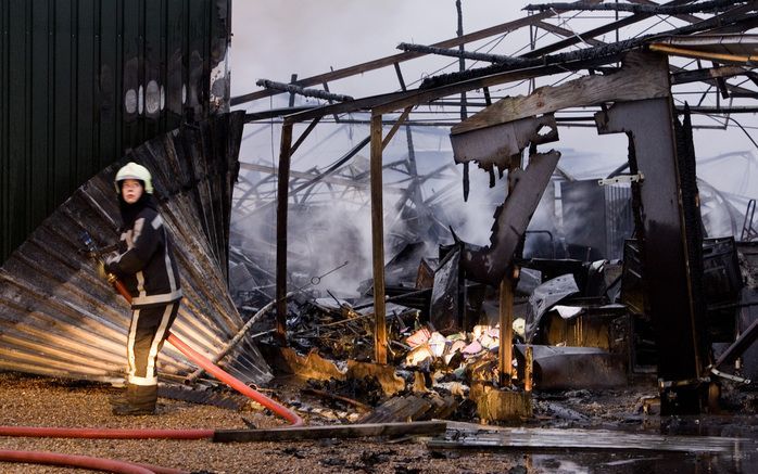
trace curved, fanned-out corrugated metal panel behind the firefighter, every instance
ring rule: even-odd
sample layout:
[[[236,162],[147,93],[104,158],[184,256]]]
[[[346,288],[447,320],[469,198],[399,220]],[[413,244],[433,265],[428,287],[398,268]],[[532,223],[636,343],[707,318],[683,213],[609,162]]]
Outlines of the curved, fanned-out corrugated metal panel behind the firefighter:
[[[100,245],[117,241],[113,177],[135,161],[153,177],[160,212],[175,241],[185,297],[172,331],[209,356],[242,326],[225,270],[231,190],[243,113],[222,115],[159,137],[90,179],[63,203],[0,268],[0,369],[121,381],[126,367],[128,305],[81,252],[89,232]],[[243,381],[265,383],[268,367],[251,340],[227,359]],[[163,373],[197,368],[169,344]]]

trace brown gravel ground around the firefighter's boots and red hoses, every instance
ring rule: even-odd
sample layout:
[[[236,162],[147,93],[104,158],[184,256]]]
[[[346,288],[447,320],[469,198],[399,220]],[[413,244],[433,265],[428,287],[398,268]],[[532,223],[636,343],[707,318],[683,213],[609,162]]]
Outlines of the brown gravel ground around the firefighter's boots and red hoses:
[[[0,372],[0,424],[111,428],[247,428],[281,425],[253,410],[159,399],[159,414],[114,417],[109,386]],[[214,444],[211,440],[119,440],[0,437],[0,449],[93,456],[204,473],[526,473],[521,454],[437,452],[412,440],[331,440]],[[79,473],[84,470],[2,464],[3,473]],[[529,469],[529,472],[539,472]]]

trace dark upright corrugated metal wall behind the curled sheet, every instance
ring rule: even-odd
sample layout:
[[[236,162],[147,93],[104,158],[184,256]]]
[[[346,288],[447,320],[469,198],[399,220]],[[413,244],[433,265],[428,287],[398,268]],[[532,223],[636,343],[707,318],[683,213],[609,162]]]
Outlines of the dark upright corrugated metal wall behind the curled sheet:
[[[231,0],[0,0],[0,262],[78,185],[228,110]]]

